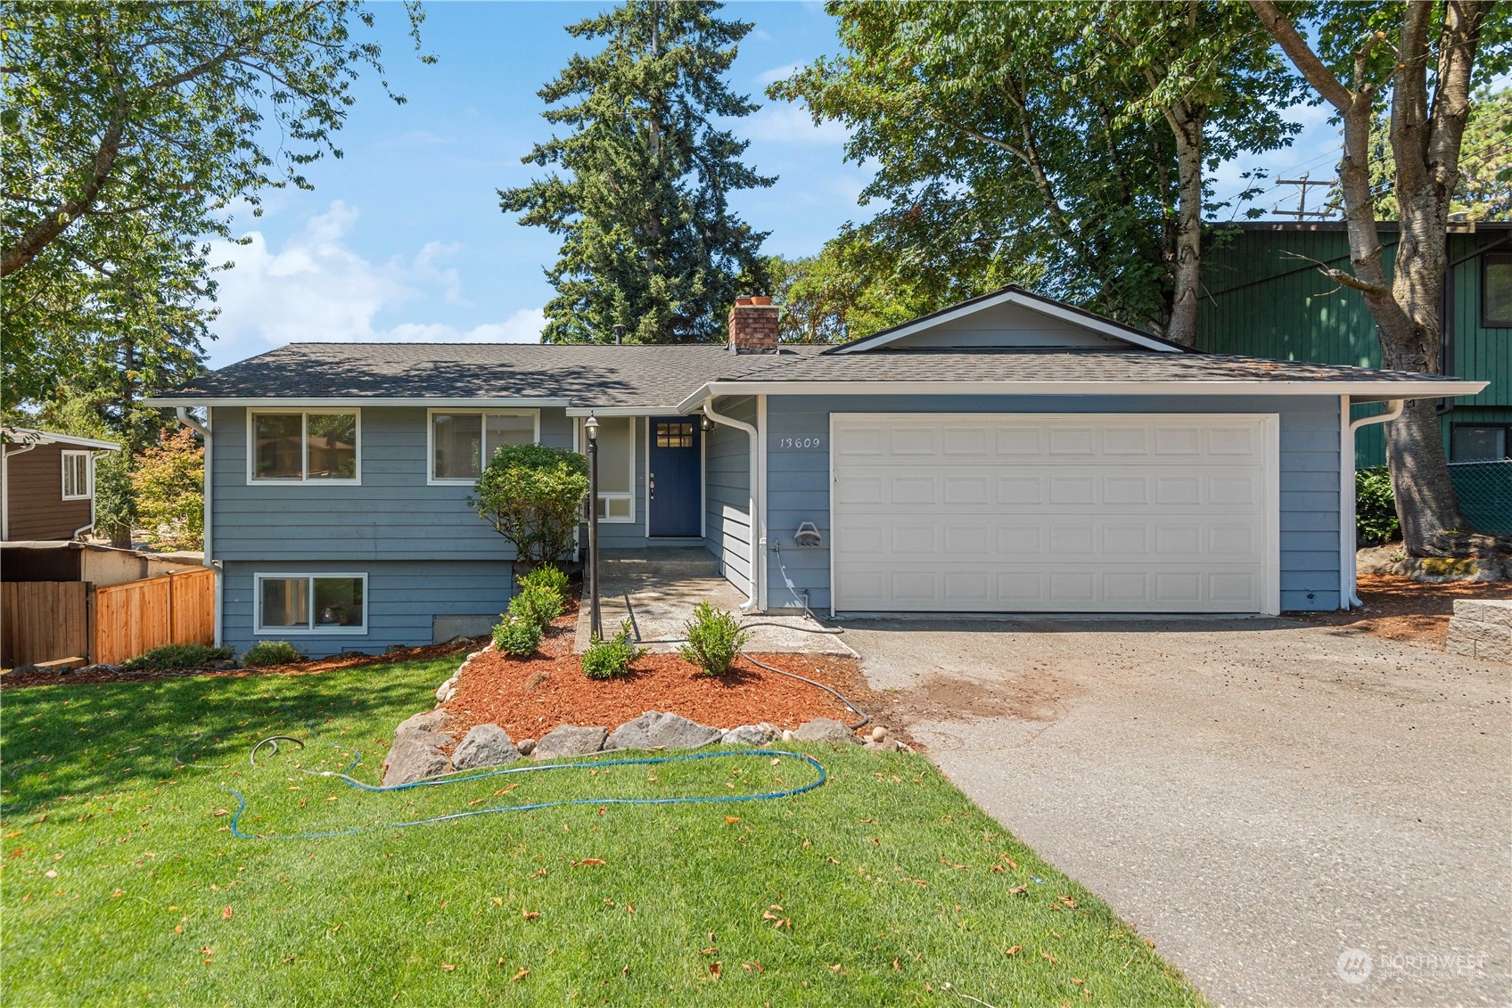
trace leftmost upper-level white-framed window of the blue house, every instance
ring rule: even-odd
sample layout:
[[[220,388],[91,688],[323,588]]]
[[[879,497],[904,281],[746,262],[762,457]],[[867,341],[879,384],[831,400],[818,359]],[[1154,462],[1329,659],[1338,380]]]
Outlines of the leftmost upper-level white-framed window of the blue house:
[[[246,479],[360,482],[360,438],[358,410],[254,410],[246,425]]]

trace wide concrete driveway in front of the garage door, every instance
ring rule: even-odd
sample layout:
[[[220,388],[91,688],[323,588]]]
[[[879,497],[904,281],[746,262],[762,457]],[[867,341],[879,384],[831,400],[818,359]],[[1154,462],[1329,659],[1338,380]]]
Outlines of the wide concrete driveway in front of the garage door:
[[[1512,1002],[1512,666],[1287,620],[842,626],[939,768],[1213,1000]]]

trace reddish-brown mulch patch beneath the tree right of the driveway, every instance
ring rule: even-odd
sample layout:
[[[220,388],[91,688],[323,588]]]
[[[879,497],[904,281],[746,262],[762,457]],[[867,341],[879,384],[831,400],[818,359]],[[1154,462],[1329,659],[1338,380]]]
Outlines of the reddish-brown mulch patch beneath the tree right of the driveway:
[[[1512,582],[1424,583],[1400,574],[1359,574],[1364,609],[1287,614],[1314,626],[1344,627],[1442,651],[1456,598],[1512,598]]]

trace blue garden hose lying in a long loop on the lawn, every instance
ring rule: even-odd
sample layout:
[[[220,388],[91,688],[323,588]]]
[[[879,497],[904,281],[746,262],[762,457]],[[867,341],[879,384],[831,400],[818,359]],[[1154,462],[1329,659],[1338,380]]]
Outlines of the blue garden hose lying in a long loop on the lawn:
[[[340,747],[337,747],[340,748]],[[582,763],[532,763],[529,766],[503,766],[497,769],[482,771],[479,774],[467,774],[466,777],[432,777],[428,780],[417,780],[408,784],[390,784],[387,787],[378,784],[364,784],[360,780],[352,778],[349,774],[361,762],[361,754],[346,768],[345,772],[333,771],[301,771],[310,774],[311,777],[336,777],[342,780],[348,787],[367,792],[395,792],[407,790],[410,787],[440,787],[443,784],[458,784],[461,781],[479,780],[484,777],[500,777],[503,774],[532,774],[537,771],[555,771],[555,769],[585,769],[599,766],[650,766],[656,763],[683,763],[688,760],[715,760],[729,759],[733,756],[774,756],[779,759],[794,759],[803,760],[809,766],[818,771],[818,780],[813,780],[803,787],[789,787],[786,790],[771,790],[761,795],[692,795],[685,798],[564,798],[561,801],[538,801],[528,805],[496,805],[493,809],[470,809],[467,812],[454,812],[445,816],[431,816],[426,819],[411,819],[408,822],[392,822],[386,825],[373,827],[354,827],[351,830],[333,830],[330,833],[284,833],[266,836],[260,833],[242,833],[240,819],[242,813],[246,810],[246,798],[242,792],[234,787],[225,787],[225,790],[236,795],[236,815],[231,816],[231,836],[242,840],[324,840],[327,837],[343,837],[355,836],[358,833],[372,833],[375,830],[404,830],[405,827],[419,827],[432,822],[451,822],[454,819],[466,819],[469,816],[487,816],[497,812],[532,812],[535,809],[558,809],[562,805],[677,805],[677,804],[732,804],[738,801],[764,801],[771,798],[792,798],[794,795],[801,795],[804,792],[813,790],[821,786],[829,775],[824,772],[824,766],[815,760],[812,756],[804,756],[803,753],[789,753],[788,750],[721,750],[715,753],[685,753],[682,756],[653,756],[646,759],[629,759],[629,760],[588,760]]]

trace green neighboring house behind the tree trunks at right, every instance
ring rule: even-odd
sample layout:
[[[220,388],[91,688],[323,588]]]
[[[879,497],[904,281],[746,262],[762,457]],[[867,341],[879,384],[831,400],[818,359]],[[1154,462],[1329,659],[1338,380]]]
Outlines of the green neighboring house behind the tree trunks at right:
[[[1390,271],[1396,225],[1382,224],[1380,237]],[[1376,323],[1359,292],[1335,290],[1314,260],[1349,263],[1341,221],[1235,224],[1214,234],[1204,251],[1198,349],[1380,367]],[[1444,444],[1456,462],[1512,458],[1512,222],[1452,225],[1448,261],[1438,372],[1489,384],[1442,404]],[[1367,411],[1379,407],[1356,407],[1355,416]],[[1359,431],[1355,464],[1385,464],[1380,426]]]

